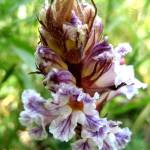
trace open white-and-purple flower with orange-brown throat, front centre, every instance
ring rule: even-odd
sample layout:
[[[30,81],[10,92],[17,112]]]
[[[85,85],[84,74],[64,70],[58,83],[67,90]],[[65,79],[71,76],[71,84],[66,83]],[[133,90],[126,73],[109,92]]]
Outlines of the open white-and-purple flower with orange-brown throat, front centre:
[[[62,84],[60,90],[54,95],[54,100],[58,103],[63,101],[59,116],[49,127],[49,131],[56,139],[62,141],[71,139],[75,135],[78,124],[91,130],[99,128],[101,120],[95,101],[81,89]]]

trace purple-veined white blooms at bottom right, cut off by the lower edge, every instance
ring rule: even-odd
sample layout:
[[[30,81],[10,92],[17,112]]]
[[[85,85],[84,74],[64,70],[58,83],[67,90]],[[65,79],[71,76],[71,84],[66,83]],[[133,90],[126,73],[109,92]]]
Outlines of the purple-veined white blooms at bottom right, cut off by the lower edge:
[[[130,141],[128,128],[121,129],[117,122],[106,121],[97,131],[82,130],[82,139],[72,144],[73,150],[121,150]]]

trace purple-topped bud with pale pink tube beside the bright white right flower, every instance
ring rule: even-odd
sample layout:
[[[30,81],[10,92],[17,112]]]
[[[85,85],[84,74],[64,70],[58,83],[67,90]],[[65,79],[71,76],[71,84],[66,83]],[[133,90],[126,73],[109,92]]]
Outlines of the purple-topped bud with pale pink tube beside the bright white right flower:
[[[114,85],[116,72],[113,55],[112,46],[105,39],[95,45],[85,58],[81,84],[90,95]]]

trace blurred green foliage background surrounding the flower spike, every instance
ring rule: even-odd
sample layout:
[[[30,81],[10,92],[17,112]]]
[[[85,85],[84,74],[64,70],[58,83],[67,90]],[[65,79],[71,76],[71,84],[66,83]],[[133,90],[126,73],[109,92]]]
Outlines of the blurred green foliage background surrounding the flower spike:
[[[34,51],[38,42],[37,15],[44,0],[0,0],[0,150],[70,150],[69,144],[49,137],[33,141],[18,122],[20,95],[34,88],[48,92],[35,71]],[[150,1],[95,0],[103,19],[104,34],[114,45],[130,42],[133,52],[126,58],[137,78],[150,83]],[[109,102],[102,116],[123,121],[133,131],[126,150],[150,149],[150,88],[127,103],[124,97]]]

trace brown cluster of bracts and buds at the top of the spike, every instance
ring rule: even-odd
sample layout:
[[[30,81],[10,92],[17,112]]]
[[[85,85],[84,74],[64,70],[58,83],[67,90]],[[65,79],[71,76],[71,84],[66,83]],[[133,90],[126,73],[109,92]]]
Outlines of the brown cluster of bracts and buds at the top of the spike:
[[[43,7],[39,17],[40,44],[55,51],[66,62],[80,63],[85,51],[99,36],[94,24],[95,12],[93,6],[77,0],[54,0]],[[73,14],[81,24],[71,22]]]

